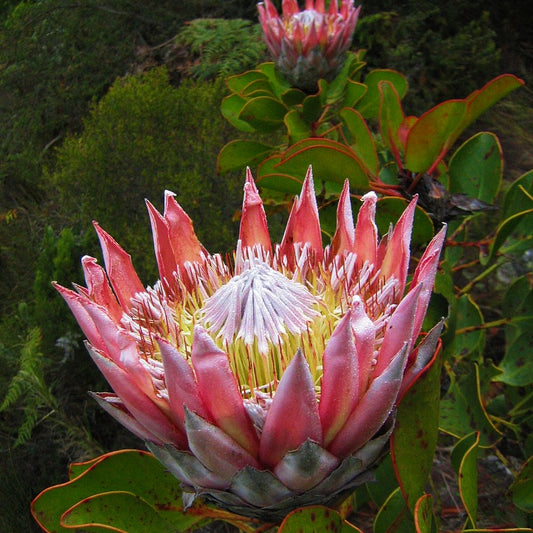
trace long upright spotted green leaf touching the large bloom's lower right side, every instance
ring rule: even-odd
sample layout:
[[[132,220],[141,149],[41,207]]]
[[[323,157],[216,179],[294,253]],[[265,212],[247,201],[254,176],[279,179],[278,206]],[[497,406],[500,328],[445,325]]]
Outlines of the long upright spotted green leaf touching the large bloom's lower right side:
[[[441,366],[442,357],[435,353],[404,393],[390,439],[396,477],[411,510],[424,494],[437,448]]]

